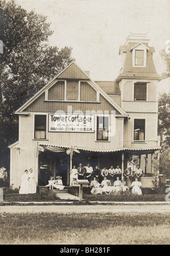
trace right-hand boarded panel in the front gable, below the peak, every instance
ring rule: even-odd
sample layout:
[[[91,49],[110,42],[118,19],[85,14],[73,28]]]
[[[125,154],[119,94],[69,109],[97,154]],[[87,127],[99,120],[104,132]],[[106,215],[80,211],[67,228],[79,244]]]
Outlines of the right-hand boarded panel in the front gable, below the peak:
[[[80,83],[80,101],[96,101],[96,90],[87,82]]]

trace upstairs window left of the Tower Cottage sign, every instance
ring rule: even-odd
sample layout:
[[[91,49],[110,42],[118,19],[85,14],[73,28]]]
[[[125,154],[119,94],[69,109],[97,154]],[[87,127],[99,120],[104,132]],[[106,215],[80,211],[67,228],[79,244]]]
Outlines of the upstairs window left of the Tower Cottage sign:
[[[46,139],[46,115],[35,115],[35,139]]]

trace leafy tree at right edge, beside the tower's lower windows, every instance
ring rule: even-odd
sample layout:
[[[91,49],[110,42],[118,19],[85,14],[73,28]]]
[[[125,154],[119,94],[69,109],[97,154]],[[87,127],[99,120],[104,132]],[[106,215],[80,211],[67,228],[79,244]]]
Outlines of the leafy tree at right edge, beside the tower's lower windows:
[[[158,135],[164,134],[164,147],[170,146],[170,93],[159,95],[158,102]]]

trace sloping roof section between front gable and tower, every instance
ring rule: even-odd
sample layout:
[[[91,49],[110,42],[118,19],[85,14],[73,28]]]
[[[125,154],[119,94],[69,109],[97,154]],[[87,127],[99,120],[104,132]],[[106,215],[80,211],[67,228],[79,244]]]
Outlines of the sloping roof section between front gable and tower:
[[[119,85],[115,81],[95,81],[106,93],[121,94]]]

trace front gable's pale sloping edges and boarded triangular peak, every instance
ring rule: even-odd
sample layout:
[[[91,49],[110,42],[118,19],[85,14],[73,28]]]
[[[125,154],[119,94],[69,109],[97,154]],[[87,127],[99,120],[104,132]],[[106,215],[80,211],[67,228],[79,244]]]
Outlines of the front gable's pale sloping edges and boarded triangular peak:
[[[70,69],[70,70],[69,70]],[[71,75],[71,71],[76,72],[76,75],[73,76]],[[65,74],[67,77],[65,77]],[[68,75],[70,74],[70,75]],[[54,79],[52,79],[47,85],[45,85],[43,88],[41,88],[39,90],[39,92],[37,92],[33,97],[31,97],[27,102],[25,102],[25,104],[23,104],[18,110],[16,110],[15,114],[20,114],[21,112],[24,111],[25,108],[27,108],[29,105],[32,104],[33,101],[35,101],[37,98],[39,98],[46,89],[48,89],[50,86],[54,85],[56,83],[56,81],[58,81],[59,79],[79,79],[79,80],[83,80],[86,79],[88,80],[88,82],[90,82],[90,84],[92,84],[92,86],[94,86],[94,88],[121,114],[124,116],[128,117],[128,114],[120,107],[116,104],[116,102],[114,102],[111,97],[108,96],[107,93],[104,92],[104,90],[102,88],[100,88],[100,86],[93,81],[74,61],[68,65],[65,69],[63,69],[62,72],[60,72],[56,77],[54,77]],[[76,77],[76,78],[75,78]],[[78,78],[79,77],[79,78]]]

